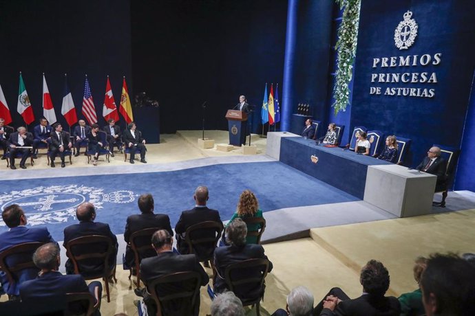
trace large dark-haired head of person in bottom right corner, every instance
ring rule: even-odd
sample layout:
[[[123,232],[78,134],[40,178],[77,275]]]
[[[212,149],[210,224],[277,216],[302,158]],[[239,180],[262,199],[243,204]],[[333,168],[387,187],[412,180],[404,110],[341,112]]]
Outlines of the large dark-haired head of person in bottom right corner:
[[[429,257],[421,290],[427,316],[475,315],[475,269],[454,254]]]

